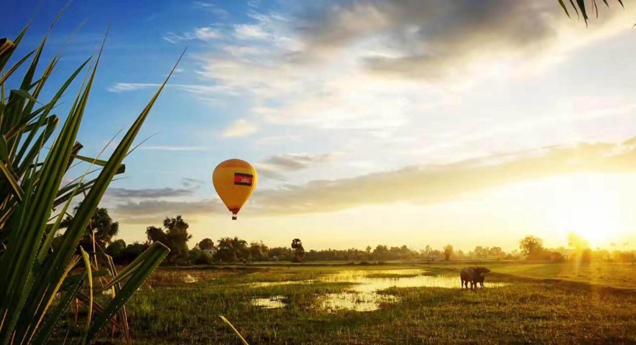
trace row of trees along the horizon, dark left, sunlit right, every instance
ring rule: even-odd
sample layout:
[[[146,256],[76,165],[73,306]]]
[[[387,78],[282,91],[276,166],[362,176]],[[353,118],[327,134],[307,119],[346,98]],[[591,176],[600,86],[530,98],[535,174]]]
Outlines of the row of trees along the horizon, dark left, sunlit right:
[[[69,217],[70,219],[70,217]],[[455,250],[452,245],[441,249],[434,249],[427,245],[421,250],[414,250],[407,245],[389,247],[387,245],[367,246],[364,250],[357,248],[308,250],[303,247],[299,238],[291,240],[289,247],[268,247],[263,241],[248,242],[238,237],[211,238],[195,243],[192,248],[188,241],[192,235],[188,233],[190,225],[181,217],[166,217],[163,226],[148,226],[146,241],[125,243],[123,240],[113,240],[118,234],[119,224],[108,215],[106,208],[97,208],[91,221],[86,227],[86,236],[80,245],[87,252],[96,248],[105,250],[113,260],[119,264],[132,262],[141,255],[152,243],[159,241],[170,248],[170,254],[164,264],[190,265],[233,262],[259,261],[387,261],[387,260],[450,260],[450,259],[492,259],[492,260],[551,260],[561,262],[577,260],[589,262],[593,259],[614,259],[629,262],[634,259],[633,252],[614,250],[592,250],[588,242],[581,236],[570,233],[568,248],[545,248],[543,240],[534,236],[526,236],[519,243],[519,250],[506,252],[501,247],[476,246],[473,250],[464,252]],[[626,243],[624,244],[626,246]],[[54,246],[55,247],[55,240]]]

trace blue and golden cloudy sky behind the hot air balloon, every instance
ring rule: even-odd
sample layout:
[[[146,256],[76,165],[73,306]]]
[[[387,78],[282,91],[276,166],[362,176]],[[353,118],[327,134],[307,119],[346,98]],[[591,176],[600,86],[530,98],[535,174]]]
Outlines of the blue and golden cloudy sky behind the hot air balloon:
[[[3,2],[3,36],[32,18],[18,55],[65,4]],[[78,137],[96,155],[187,48],[102,199],[127,243],[182,215],[190,246],[636,248],[636,7],[609,4],[586,25],[556,0],[76,0],[45,56],[59,85],[110,28]],[[211,184],[229,158],[259,174],[235,221]]]

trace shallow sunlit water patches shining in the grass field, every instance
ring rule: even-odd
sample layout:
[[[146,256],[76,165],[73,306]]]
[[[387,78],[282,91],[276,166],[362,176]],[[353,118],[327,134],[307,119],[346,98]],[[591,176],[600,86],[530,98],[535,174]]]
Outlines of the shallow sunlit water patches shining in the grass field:
[[[254,283],[252,286],[270,286],[285,284],[307,284],[316,280],[303,281],[267,281]],[[459,274],[457,276],[433,276],[428,271],[422,269],[392,269],[373,271],[341,271],[319,278],[318,281],[326,282],[347,282],[352,283],[345,292],[336,294],[324,294],[317,297],[317,308],[326,311],[352,310],[352,311],[374,311],[380,308],[383,303],[399,301],[399,297],[391,294],[380,294],[378,292],[387,288],[398,287],[438,287],[438,288],[460,288],[461,282]],[[485,281],[485,287],[502,287],[506,283],[489,283]],[[271,298],[252,299],[254,306],[263,308],[282,308],[283,296],[273,296]]]

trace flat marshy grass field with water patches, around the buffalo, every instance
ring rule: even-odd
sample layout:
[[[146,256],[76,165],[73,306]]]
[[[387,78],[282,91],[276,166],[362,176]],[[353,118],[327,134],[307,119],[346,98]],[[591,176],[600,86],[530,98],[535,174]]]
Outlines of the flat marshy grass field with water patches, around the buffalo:
[[[462,266],[162,268],[128,316],[140,344],[239,343],[219,315],[253,344],[636,342],[636,266],[491,263],[475,292],[460,290]],[[326,300],[342,296],[358,297]],[[357,303],[370,311],[347,309]]]

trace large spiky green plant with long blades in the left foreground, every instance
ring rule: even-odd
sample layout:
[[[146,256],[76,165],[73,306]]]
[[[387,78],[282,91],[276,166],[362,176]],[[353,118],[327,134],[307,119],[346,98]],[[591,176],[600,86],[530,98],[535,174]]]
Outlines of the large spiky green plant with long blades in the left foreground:
[[[94,60],[79,65],[57,93],[44,102],[41,90],[59,62],[59,56],[55,55],[41,76],[36,76],[46,36],[36,50],[15,64],[8,64],[27,27],[13,41],[0,39],[0,71],[3,71],[0,74],[0,344],[46,342],[60,316],[68,313],[71,302],[87,310],[82,326],[83,342],[95,339],[109,323],[120,328],[128,339],[123,306],[169,249],[162,243],[154,243],[117,272],[108,255],[103,252],[88,255],[78,243],[86,236],[86,225],[109,183],[115,175],[123,173],[121,162],[170,75],[109,159],[80,156],[82,145],[76,142],[76,136],[101,50]],[[19,88],[7,90],[6,80],[29,58],[31,64],[25,69]],[[71,110],[53,138],[59,118],[52,111],[86,65],[88,71]],[[62,178],[79,161],[90,167],[63,185]],[[92,166],[99,167],[95,171],[99,175],[88,179]],[[84,195],[83,201],[66,229],[60,230],[62,218],[78,194]],[[53,236],[59,230],[62,233],[59,245],[53,249]],[[107,262],[105,269],[97,266],[98,257]],[[93,301],[93,294],[102,291],[111,292],[111,299],[104,306]]]

